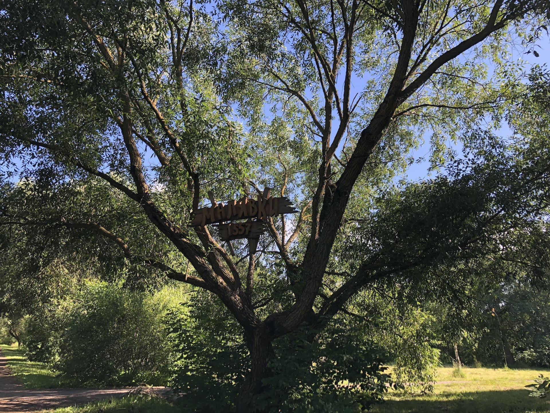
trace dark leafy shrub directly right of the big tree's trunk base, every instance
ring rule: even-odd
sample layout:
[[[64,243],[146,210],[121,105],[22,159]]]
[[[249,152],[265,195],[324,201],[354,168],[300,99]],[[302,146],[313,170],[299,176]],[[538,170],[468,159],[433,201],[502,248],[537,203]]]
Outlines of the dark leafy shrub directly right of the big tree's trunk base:
[[[272,376],[257,398],[260,411],[355,413],[387,392],[384,353],[350,327],[333,324],[311,340],[297,332],[274,343]],[[395,386],[394,386],[395,387]]]

